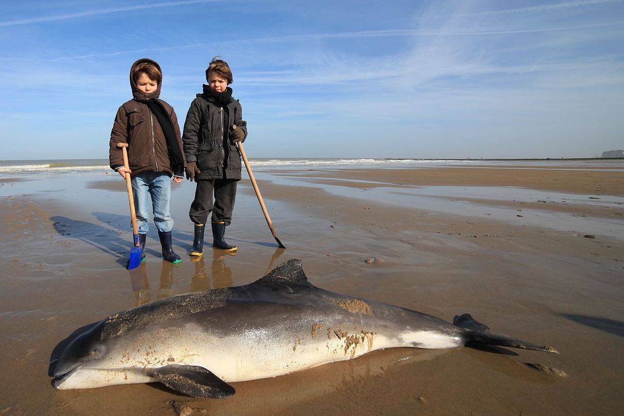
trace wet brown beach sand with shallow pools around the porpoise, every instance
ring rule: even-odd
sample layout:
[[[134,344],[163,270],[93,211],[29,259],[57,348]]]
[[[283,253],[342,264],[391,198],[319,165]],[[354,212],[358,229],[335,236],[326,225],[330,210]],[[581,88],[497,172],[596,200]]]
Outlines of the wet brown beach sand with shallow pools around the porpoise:
[[[227,233],[239,252],[207,248],[190,261],[194,185],[185,182],[172,194],[182,264],[162,261],[151,225],[147,262],[131,272],[117,175],[2,180],[0,415],[621,414],[624,163],[255,173],[287,249],[243,180]],[[324,289],[447,321],[468,312],[560,354],[389,349],[237,383],[225,400],[157,383],[51,386],[55,347],[76,329],[162,297],[250,283],[291,258]]]

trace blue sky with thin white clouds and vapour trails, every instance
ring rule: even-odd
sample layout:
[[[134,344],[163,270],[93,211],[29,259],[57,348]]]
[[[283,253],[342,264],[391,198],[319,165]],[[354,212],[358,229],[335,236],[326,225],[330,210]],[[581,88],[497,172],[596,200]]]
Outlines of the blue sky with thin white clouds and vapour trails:
[[[33,0],[0,16],[4,160],[107,158],[140,57],[182,128],[215,55],[251,158],[624,148],[624,0]]]

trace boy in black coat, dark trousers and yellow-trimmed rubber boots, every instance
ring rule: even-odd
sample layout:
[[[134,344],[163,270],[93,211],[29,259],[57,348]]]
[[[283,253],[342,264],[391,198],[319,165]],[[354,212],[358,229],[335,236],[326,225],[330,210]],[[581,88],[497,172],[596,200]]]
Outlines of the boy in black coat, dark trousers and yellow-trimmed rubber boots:
[[[187,179],[197,182],[188,213],[195,224],[191,256],[203,254],[204,225],[211,212],[213,247],[237,249],[226,243],[224,236],[225,227],[232,223],[236,183],[241,179],[236,143],[245,140],[247,123],[240,103],[232,98],[232,89],[227,86],[232,84],[232,70],[218,58],[214,57],[206,70],[208,85],[203,85],[203,94],[197,94],[191,103],[182,135]]]

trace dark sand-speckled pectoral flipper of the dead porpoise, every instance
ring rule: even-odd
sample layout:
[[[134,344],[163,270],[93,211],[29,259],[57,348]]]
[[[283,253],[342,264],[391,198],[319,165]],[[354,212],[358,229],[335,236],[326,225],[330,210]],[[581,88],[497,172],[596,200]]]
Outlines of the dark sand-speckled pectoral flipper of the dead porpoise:
[[[200,399],[225,399],[236,392],[210,370],[197,365],[165,365],[152,370],[152,377],[170,389]]]

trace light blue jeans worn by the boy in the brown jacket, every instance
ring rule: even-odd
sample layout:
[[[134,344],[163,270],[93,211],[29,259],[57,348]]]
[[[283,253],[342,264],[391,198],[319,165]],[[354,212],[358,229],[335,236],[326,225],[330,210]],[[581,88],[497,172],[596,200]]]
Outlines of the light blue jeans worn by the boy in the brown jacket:
[[[173,220],[169,212],[171,196],[171,178],[164,172],[141,172],[132,178],[132,193],[134,208],[137,211],[137,225],[139,234],[147,234],[149,230],[149,201],[147,194],[152,197],[154,224],[158,231],[167,233],[173,229]]]

